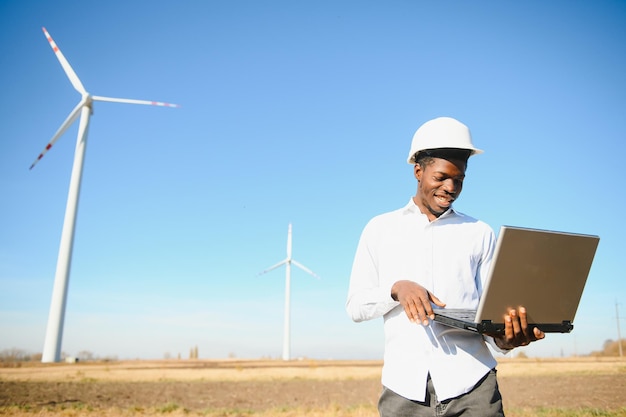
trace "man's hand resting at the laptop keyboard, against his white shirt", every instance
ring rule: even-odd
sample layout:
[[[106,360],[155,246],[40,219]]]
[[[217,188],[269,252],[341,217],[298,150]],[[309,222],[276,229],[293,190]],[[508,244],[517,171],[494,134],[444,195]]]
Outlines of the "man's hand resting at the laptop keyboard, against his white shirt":
[[[391,298],[400,302],[404,307],[404,312],[413,323],[422,323],[428,326],[429,318],[433,320],[435,313],[430,303],[434,303],[439,307],[445,307],[446,304],[435,297],[434,294],[426,290],[413,281],[397,281],[391,287]]]

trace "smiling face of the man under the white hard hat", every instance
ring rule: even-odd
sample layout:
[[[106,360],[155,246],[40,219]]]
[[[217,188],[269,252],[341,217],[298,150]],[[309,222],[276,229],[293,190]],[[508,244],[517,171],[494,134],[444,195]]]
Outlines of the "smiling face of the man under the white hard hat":
[[[415,204],[429,220],[445,213],[463,189],[466,164],[463,161],[434,158],[424,166],[415,165],[417,194]]]

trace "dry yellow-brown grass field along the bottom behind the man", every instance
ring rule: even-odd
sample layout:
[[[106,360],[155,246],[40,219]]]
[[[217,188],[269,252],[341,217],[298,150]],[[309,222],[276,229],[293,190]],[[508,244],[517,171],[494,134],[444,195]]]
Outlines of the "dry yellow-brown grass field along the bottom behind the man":
[[[169,360],[0,368],[0,415],[375,417],[379,361]],[[626,416],[626,361],[507,359],[509,417]]]

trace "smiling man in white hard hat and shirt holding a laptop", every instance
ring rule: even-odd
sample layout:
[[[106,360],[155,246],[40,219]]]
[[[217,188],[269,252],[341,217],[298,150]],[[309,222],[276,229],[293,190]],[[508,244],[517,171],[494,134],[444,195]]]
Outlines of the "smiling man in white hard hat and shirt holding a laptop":
[[[382,417],[503,416],[487,343],[506,352],[544,337],[528,327],[523,307],[505,315],[500,336],[433,321],[433,308],[478,306],[494,253],[491,227],[452,208],[467,161],[478,153],[461,122],[426,122],[408,159],[417,193],[374,217],[361,235],[346,309],[357,322],[384,318]]]

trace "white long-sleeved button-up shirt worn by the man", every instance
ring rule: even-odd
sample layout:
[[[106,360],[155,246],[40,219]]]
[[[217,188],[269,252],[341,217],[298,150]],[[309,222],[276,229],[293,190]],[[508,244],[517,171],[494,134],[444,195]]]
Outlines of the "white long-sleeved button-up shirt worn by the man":
[[[494,248],[486,223],[453,209],[431,222],[413,199],[370,220],[354,258],[346,309],[357,322],[384,317],[385,387],[424,401],[430,373],[443,401],[469,392],[496,366],[485,344],[494,345],[492,338],[435,322],[412,323],[391,298],[396,281],[411,280],[448,308],[477,308]]]

